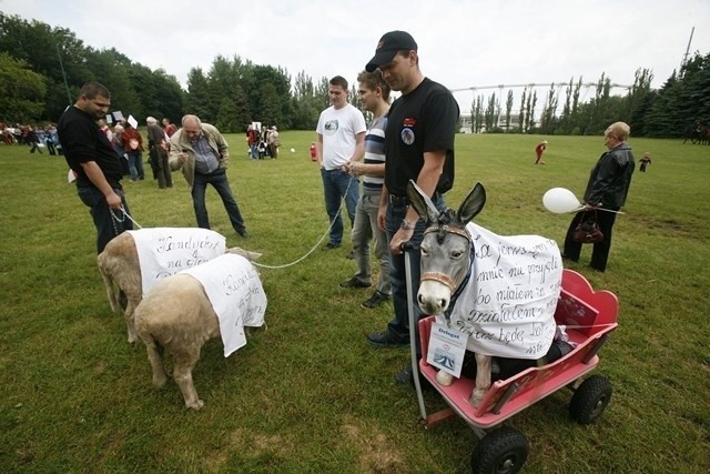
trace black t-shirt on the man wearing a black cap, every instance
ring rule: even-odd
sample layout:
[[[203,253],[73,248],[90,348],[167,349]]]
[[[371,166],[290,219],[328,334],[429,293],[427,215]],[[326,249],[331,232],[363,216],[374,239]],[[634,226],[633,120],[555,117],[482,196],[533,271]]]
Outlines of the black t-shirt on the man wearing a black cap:
[[[425,78],[412,92],[394,101],[385,132],[385,184],[389,194],[407,194],[409,180],[417,180],[424,152],[446,150],[446,162],[436,191],[454,185],[454,137],[458,103],[444,85]]]

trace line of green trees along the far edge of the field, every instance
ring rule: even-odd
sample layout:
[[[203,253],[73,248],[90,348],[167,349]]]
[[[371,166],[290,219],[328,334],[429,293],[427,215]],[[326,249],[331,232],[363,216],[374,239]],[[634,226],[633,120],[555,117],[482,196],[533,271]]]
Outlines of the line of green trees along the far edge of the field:
[[[495,93],[478,95],[470,110],[474,130],[601,134],[621,120],[636,137],[672,138],[710,123],[710,53],[696,52],[659,90],[651,89],[652,79],[650,70],[638,69],[626,95],[611,95],[611,80],[602,74],[587,101],[580,99],[582,88],[589,87],[582,78],[551,84],[544,98],[525,88],[515,111],[511,90],[505,103]],[[253,121],[314,130],[329,104],[328,78],[314,81],[305,71],[292,78],[281,67],[239,56],[217,56],[209,71],[191,69],[183,90],[174,75],[131,61],[114,48],[97,50],[68,29],[0,12],[0,121],[55,122],[88,80],[104,83],[113,95],[112,109],[124,115],[179,121],[184,113],[195,113],[229,132],[244,131]],[[540,117],[535,112],[538,101],[544,101]],[[358,105],[356,93],[351,102]]]

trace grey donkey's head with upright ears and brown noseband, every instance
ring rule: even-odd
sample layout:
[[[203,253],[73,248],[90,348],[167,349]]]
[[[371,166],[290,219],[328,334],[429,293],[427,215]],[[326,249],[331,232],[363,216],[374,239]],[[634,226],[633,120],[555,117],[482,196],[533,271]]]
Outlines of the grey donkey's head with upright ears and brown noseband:
[[[458,212],[438,211],[429,196],[409,180],[407,198],[426,223],[422,240],[422,281],[417,301],[427,314],[443,314],[452,295],[467,280],[473,268],[474,243],[466,230],[486,204],[486,191],[476,183]]]

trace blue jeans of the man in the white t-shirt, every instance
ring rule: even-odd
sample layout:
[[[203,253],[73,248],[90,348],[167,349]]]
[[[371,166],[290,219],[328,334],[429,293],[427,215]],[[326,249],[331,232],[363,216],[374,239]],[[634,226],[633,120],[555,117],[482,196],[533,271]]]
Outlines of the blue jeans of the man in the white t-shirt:
[[[351,225],[355,223],[355,209],[359,199],[359,180],[338,169],[321,169],[323,177],[323,193],[325,196],[325,212],[331,226],[329,243],[339,245],[343,242],[343,218],[341,218],[341,200],[345,199],[347,216]]]

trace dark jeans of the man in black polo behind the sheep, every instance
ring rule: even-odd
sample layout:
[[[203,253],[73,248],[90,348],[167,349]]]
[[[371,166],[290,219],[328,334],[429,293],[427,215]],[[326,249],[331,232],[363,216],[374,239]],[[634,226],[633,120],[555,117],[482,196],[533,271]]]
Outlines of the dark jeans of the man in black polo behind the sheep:
[[[123,191],[114,188],[113,192],[121,196],[121,203],[123,209],[129,214],[129,204],[125,202],[125,195]],[[93,224],[97,228],[97,253],[103,252],[103,248],[106,246],[109,241],[119,235],[123,231],[133,230],[133,222],[121,211],[113,211],[109,209],[106,199],[101,191],[97,188],[79,188],[77,186],[77,193],[79,199],[87,206],[89,206],[89,213],[93,219]]]

